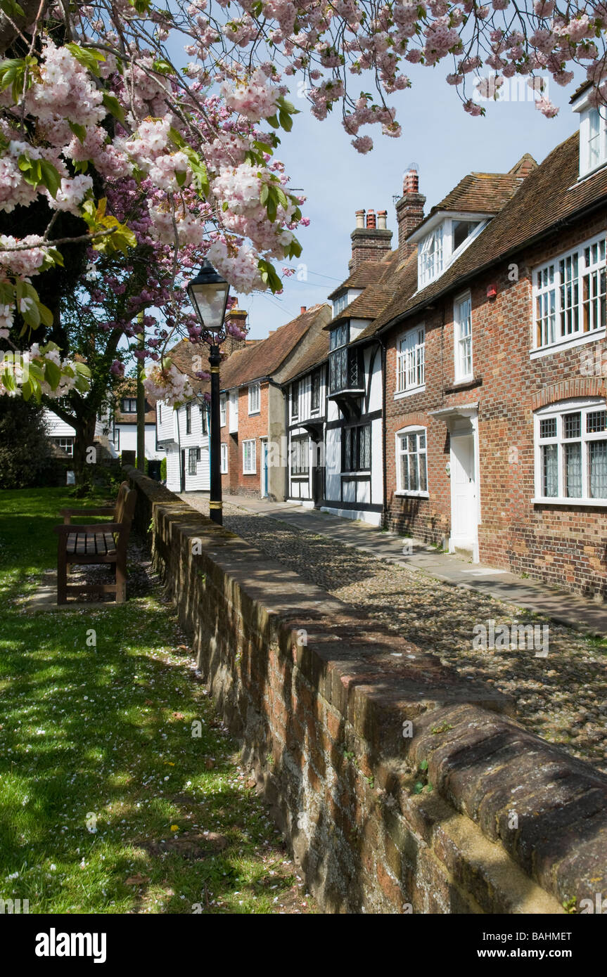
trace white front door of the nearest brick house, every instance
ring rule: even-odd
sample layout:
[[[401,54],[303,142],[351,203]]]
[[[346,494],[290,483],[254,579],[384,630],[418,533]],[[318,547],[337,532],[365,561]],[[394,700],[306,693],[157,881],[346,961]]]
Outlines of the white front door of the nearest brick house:
[[[450,549],[471,550],[476,558],[478,501],[474,455],[473,434],[452,435]]]

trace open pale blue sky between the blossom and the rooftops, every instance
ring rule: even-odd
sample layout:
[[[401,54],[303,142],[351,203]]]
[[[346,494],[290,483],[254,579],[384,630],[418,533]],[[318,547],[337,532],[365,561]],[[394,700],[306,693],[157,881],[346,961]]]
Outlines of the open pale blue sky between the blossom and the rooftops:
[[[554,119],[544,118],[533,102],[522,101],[482,103],[487,106],[486,116],[472,118],[444,80],[448,70],[447,65],[412,66],[412,88],[390,99],[397,108],[402,137],[382,137],[379,126],[362,130],[374,142],[367,155],[350,145],[351,137],[335,112],[318,122],[305,99],[293,100],[301,114],[295,116],[290,133],[281,133],[277,156],[285,164],[291,186],[307,196],[302,210],[310,218],[310,227],[298,233],[303,245],[298,263],[306,265],[307,280],[287,279],[282,295],[257,293],[239,300],[249,313],[251,338],[267,336],[270,329],[296,316],[302,305],[325,301],[347,276],[356,210],[387,210],[388,228],[396,241],[393,196],[401,195],[403,173],[411,163],[419,170],[427,213],[467,173],[507,172],[525,152],[541,162],[577,128],[578,115],[569,106],[575,84],[561,89],[550,83],[548,97],[560,107]],[[360,79],[355,80],[360,85]]]

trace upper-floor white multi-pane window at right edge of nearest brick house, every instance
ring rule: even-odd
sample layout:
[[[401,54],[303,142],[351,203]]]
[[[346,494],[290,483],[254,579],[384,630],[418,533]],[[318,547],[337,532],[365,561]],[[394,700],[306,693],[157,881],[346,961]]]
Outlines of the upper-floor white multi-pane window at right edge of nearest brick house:
[[[600,245],[603,250],[603,257],[593,261],[592,254],[589,255],[589,262],[586,264],[585,251],[591,252],[597,246],[597,253]],[[577,300],[574,305],[569,305],[567,295],[563,303],[562,289],[568,285],[567,268],[573,267],[574,257],[577,256],[578,273],[575,279],[571,279],[572,288],[576,289]],[[565,265],[565,275],[561,280],[560,264]],[[572,346],[579,346],[583,343],[593,342],[605,336],[606,324],[598,327],[584,329],[584,279],[588,276],[589,281],[600,282],[601,272],[607,279],[607,234],[596,234],[590,237],[569,251],[556,255],[550,261],[545,261],[533,269],[533,335],[532,335],[532,359],[545,356],[555,350],[567,349]],[[596,296],[586,300],[589,303],[590,313],[593,314],[593,306],[597,301]],[[606,300],[607,301],[607,300]],[[571,309],[578,310],[578,328],[561,334],[562,328],[567,328],[571,321]],[[605,317],[607,319],[607,316]],[[582,328],[580,326],[582,325]],[[542,329],[542,336],[539,336],[539,329]],[[541,340],[539,342],[539,340]]]

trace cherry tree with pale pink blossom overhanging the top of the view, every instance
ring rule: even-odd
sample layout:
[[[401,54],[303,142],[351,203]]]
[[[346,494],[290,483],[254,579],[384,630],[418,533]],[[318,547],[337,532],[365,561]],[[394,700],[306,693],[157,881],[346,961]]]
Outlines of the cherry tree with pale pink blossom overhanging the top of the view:
[[[292,128],[289,86],[302,86],[320,120],[338,106],[361,152],[372,148],[369,126],[400,135],[390,100],[411,86],[408,64],[445,64],[472,114],[484,109],[470,84],[488,69],[498,88],[527,76],[547,116],[556,109],[539,76],[566,86],[581,64],[594,104],[607,94],[603,0],[172,0],[169,10],[0,0],[0,11],[0,211],[16,218],[0,234],[0,339],[17,348],[53,325],[35,282],[61,268],[65,245],[86,244],[92,266],[116,256],[125,267],[146,246],[151,287],[124,315],[161,310],[147,340],[149,389],[173,403],[185,394],[165,356],[173,334],[218,338],[195,323],[185,276],[207,257],[237,292],[278,290],[274,262],[301,252],[303,200],[274,158]],[[20,235],[20,214],[41,199],[48,222]],[[77,233],[58,234],[62,214]],[[64,396],[86,384],[67,353],[34,344],[27,379],[5,370],[0,393]]]

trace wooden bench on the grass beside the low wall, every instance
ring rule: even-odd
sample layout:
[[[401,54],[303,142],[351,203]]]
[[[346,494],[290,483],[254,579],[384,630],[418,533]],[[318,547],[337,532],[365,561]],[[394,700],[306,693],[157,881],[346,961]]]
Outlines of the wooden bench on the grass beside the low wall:
[[[57,548],[57,603],[66,604],[68,593],[115,594],[116,604],[126,600],[126,547],[135,512],[137,493],[123,482],[115,506],[100,509],[62,509],[64,525],[56,526],[59,534]],[[72,523],[74,516],[111,516],[108,523]],[[67,573],[72,564],[101,564],[114,566],[113,583],[68,584]]]

